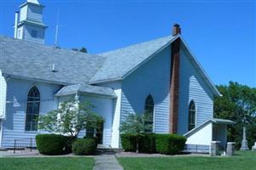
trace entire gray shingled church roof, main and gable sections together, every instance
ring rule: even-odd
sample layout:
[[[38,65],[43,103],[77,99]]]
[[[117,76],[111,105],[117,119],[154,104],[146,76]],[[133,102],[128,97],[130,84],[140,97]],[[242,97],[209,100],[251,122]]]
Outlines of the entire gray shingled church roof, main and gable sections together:
[[[179,36],[162,37],[93,55],[0,36],[0,69],[3,74],[15,77],[58,82],[63,85],[82,84],[78,91],[105,95],[109,93],[109,89],[93,88],[86,84],[122,80],[177,37]],[[191,58],[213,93],[220,95],[192,54]],[[51,70],[53,64],[57,72]],[[70,88],[74,87],[64,88],[67,94],[72,92]]]

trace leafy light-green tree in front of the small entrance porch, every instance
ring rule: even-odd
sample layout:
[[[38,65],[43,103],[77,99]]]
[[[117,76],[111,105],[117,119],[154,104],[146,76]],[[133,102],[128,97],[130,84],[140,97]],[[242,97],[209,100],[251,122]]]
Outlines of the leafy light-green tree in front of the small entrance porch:
[[[89,103],[78,104],[75,100],[64,102],[59,109],[39,116],[38,129],[77,137],[82,130],[88,127],[97,128],[99,122],[103,121],[100,116],[91,111],[93,107]]]

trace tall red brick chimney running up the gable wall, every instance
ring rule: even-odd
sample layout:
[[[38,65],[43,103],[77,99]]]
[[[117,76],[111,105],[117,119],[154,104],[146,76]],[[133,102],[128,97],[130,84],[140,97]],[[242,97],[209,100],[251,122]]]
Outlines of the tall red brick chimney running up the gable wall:
[[[173,36],[180,34],[180,26],[174,24]],[[170,110],[169,110],[169,132],[178,133],[179,118],[179,51],[180,38],[171,44],[171,73],[170,73]]]

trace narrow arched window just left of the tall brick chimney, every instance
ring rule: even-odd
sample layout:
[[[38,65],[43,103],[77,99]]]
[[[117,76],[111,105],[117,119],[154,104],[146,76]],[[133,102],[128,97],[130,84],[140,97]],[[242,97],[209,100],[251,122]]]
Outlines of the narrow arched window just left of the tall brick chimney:
[[[145,99],[145,118],[145,132],[151,133],[154,123],[154,100],[151,95],[148,95]]]

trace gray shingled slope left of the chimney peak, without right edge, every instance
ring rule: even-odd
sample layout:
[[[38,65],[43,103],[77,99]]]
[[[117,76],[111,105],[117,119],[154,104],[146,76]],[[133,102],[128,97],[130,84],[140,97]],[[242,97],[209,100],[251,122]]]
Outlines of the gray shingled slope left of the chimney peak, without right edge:
[[[106,57],[105,62],[92,77],[90,83],[122,80],[128,72],[133,71],[134,68],[137,68],[174,38],[171,36],[162,37],[100,54]]]

